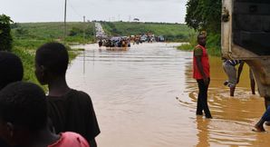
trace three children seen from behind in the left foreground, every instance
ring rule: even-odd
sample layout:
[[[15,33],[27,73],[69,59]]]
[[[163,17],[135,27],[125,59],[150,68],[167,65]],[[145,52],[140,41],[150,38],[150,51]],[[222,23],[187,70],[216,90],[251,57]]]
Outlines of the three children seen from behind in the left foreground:
[[[0,52],[0,146],[96,147],[100,133],[91,97],[66,82],[66,47],[43,44],[36,50],[35,75],[47,95],[22,82],[24,66],[12,53]]]

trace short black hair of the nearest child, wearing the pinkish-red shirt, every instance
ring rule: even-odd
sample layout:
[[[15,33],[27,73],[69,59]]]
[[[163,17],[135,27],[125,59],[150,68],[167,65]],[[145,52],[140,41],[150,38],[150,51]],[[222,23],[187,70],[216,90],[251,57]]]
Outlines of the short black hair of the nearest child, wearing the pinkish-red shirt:
[[[34,83],[10,83],[0,91],[0,118],[4,122],[39,131],[47,125],[47,101]]]

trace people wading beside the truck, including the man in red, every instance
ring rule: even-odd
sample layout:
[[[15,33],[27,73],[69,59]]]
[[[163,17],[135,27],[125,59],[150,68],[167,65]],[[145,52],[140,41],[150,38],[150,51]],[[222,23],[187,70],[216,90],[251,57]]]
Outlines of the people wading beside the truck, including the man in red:
[[[198,103],[196,114],[203,115],[204,112],[206,118],[212,118],[207,105],[207,90],[210,83],[210,65],[207,55],[206,39],[206,33],[202,32],[198,34],[198,45],[193,51],[193,78],[196,79],[198,83]],[[227,85],[230,88],[230,96],[234,96],[236,84],[239,83],[245,62],[237,59],[227,60],[224,58],[223,60],[222,66],[228,77],[224,85]],[[236,65],[238,65],[237,70]],[[249,78],[252,94],[256,94],[256,82],[251,69],[249,69]],[[265,132],[264,123],[266,125],[270,125],[270,106],[265,105],[265,109],[265,113],[259,122],[256,122],[255,129],[253,129],[253,131]]]

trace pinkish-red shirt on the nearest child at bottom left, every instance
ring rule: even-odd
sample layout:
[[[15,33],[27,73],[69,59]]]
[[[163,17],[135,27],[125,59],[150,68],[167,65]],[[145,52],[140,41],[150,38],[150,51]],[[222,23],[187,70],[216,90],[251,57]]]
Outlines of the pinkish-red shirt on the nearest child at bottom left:
[[[76,132],[60,133],[60,139],[48,147],[90,147],[88,142]]]

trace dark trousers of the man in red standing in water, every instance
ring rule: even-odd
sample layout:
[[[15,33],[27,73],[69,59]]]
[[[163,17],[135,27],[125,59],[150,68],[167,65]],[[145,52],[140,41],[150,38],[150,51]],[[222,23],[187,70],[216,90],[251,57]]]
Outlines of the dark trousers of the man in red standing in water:
[[[210,83],[210,78],[208,78]],[[202,111],[205,112],[207,118],[211,118],[211,113],[207,104],[207,91],[208,85],[205,84],[203,79],[198,79],[198,102],[197,102],[197,112],[196,114],[202,115]]]

